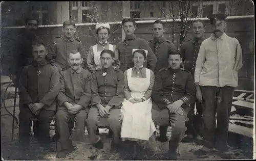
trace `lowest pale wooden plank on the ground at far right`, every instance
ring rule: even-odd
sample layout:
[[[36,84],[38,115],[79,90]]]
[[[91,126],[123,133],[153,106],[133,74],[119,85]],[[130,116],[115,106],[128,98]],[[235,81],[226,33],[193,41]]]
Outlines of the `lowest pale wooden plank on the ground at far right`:
[[[253,129],[229,123],[228,131],[238,133],[246,137],[253,137]]]

